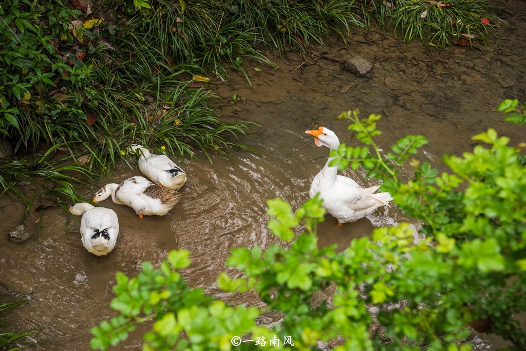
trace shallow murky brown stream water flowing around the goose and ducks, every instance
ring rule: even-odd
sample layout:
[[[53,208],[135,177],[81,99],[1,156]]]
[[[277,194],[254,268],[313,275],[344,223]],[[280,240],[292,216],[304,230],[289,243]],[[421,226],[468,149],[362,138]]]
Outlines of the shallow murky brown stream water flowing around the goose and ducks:
[[[423,158],[439,165],[444,153],[472,148],[469,138],[488,127],[524,141],[523,130],[502,122],[494,108],[505,98],[526,96],[526,6],[501,1],[499,15],[509,23],[496,31],[490,47],[466,49],[455,54],[404,45],[379,33],[362,32],[349,38],[349,48],[329,43],[306,58],[290,54],[290,61],[276,59],[280,71],[253,71],[252,88],[243,77],[233,77],[218,87],[226,99],[225,118],[260,123],[248,143],[256,153],[240,152],[230,160],[213,157],[186,161],[188,182],[184,197],[164,217],[138,219],[128,207],[109,200],[102,205],[117,212],[120,234],[115,250],[105,257],[89,254],[80,244],[80,218],[59,209],[47,210],[38,236],[22,245],[6,240],[23,213],[17,204],[0,200],[2,282],[25,294],[29,303],[8,314],[19,330],[42,326],[32,350],[87,350],[89,328],[113,315],[109,301],[116,271],[134,275],[140,262],[158,263],[172,249],[186,249],[193,264],[183,272],[191,286],[225,297],[215,280],[225,270],[232,247],[276,242],[266,226],[266,200],[281,197],[298,208],[308,197],[310,180],[326,161],[328,149],[316,148],[304,134],[314,125],[337,132],[349,140],[346,123],[335,121],[343,110],[359,108],[363,115],[381,113],[379,142],[383,148],[407,134],[429,139]],[[517,2],[519,3],[519,2]],[[357,78],[340,68],[340,62],[360,55],[373,61],[370,77]],[[298,68],[299,66],[299,68]],[[260,68],[264,68],[259,66]],[[250,67],[247,67],[250,69]],[[231,94],[242,101],[228,104]],[[119,182],[139,174],[138,168],[118,169],[105,182]],[[364,185],[363,174],[344,172]],[[103,185],[101,182],[100,185]],[[89,198],[97,189],[86,189]],[[26,225],[34,229],[39,214],[32,211]],[[375,226],[407,220],[398,211],[380,209],[371,218],[337,228],[327,216],[319,226],[322,245],[369,235]],[[246,302],[250,296],[244,297]],[[140,331],[120,349],[141,349]],[[480,336],[479,349],[492,342]]]

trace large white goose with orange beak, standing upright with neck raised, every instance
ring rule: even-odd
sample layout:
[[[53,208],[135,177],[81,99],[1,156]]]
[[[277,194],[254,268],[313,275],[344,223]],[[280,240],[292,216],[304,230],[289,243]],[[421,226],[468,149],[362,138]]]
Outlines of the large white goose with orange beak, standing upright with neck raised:
[[[340,145],[336,134],[325,127],[305,132],[314,136],[316,146],[335,150]],[[338,176],[338,166],[329,166],[331,160],[329,157],[325,167],[312,180],[309,195],[313,198],[320,193],[323,207],[336,217],[338,225],[356,222],[392,200],[388,192],[374,193],[379,185],[363,189],[352,179]]]

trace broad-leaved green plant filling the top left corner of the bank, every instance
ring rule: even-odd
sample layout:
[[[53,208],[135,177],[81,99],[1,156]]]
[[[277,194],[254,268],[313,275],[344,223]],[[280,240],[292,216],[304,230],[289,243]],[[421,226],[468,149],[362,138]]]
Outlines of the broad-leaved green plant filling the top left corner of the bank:
[[[43,20],[42,14],[47,14]],[[8,0],[0,6],[0,131],[7,136],[27,135],[21,119],[31,115],[29,105],[55,87],[52,78],[64,66],[48,43],[56,35],[67,39],[68,18],[80,14],[60,0]],[[42,101],[41,101],[42,102]],[[27,139],[25,139],[27,142]]]

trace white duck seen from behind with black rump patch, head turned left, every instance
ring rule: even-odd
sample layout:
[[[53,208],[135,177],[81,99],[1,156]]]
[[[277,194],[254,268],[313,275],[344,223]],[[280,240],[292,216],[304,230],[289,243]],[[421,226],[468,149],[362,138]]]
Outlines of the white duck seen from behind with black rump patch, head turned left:
[[[69,212],[82,215],[80,241],[86,250],[97,256],[106,255],[113,250],[119,235],[119,219],[113,210],[80,202],[70,207]]]

